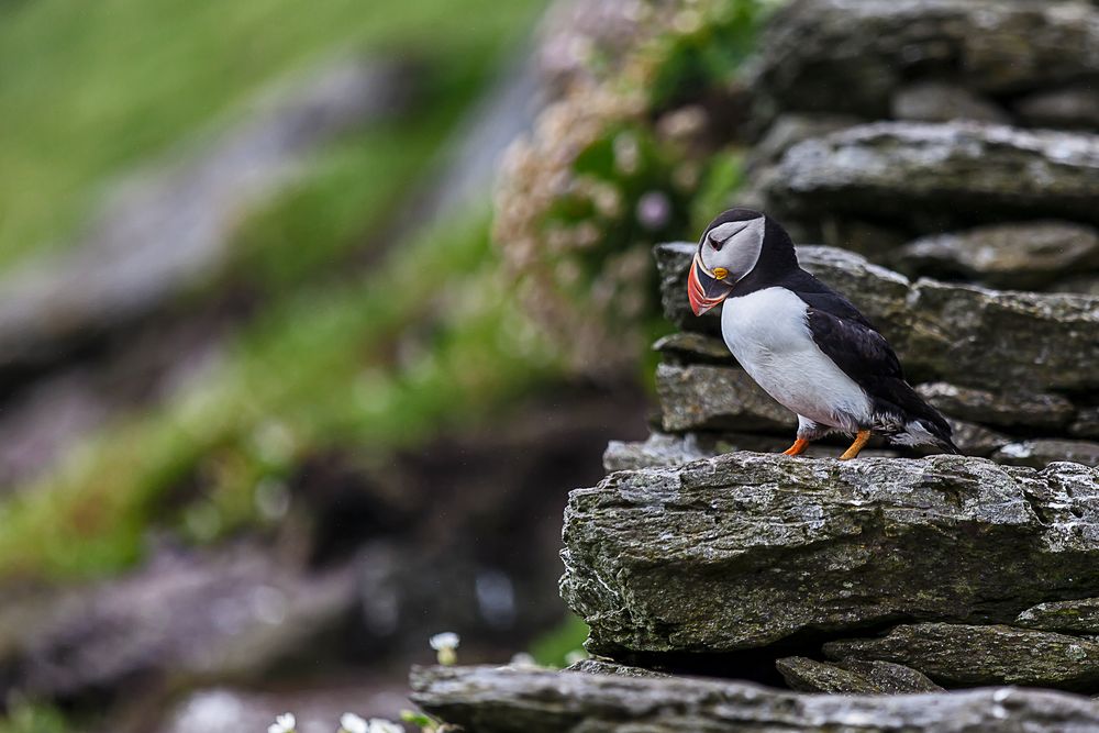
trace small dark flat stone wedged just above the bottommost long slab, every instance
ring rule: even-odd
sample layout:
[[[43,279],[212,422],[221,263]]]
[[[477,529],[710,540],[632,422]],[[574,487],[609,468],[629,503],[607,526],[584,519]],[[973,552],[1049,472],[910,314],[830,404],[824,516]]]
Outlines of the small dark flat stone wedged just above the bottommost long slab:
[[[942,690],[926,675],[891,662],[832,664],[808,657],[784,657],[775,663],[790,689],[831,695],[898,695]]]

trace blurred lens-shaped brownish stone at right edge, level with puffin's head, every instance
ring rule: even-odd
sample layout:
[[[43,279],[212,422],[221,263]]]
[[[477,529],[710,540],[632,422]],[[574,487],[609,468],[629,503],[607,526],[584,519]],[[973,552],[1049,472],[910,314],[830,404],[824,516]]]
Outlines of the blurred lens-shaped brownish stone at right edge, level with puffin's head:
[[[1070,222],[990,224],[917,240],[891,258],[906,274],[1037,289],[1099,267],[1099,233]]]

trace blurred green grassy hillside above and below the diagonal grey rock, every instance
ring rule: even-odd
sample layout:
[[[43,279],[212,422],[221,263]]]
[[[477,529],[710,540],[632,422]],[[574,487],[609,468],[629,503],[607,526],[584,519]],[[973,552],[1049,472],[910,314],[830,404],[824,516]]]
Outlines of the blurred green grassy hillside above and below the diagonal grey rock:
[[[325,59],[410,59],[428,101],[426,113],[329,145],[242,223],[222,279],[259,293],[258,312],[197,384],[114,418],[0,503],[0,580],[119,570],[153,526],[223,536],[257,520],[257,487],[296,459],[322,447],[407,445],[552,370],[496,287],[487,200],[414,241],[377,234],[428,181],[543,4],[0,5],[0,263],[9,265],[75,241],[111,182]],[[368,273],[348,267],[374,249],[387,254]],[[167,508],[165,496],[187,482],[199,490]]]

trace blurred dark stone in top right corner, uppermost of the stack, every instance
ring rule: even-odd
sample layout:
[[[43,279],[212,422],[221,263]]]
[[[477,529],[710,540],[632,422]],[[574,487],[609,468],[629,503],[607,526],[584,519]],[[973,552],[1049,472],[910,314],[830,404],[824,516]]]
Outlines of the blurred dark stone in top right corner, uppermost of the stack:
[[[764,110],[889,113],[904,80],[1001,95],[1099,76],[1099,11],[1075,2],[800,0],[776,13],[755,87]]]

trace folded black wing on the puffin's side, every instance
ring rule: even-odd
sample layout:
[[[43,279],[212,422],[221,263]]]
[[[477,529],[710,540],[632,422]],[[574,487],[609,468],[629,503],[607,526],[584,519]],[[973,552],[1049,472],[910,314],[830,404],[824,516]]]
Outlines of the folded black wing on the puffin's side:
[[[817,346],[857,384],[866,387],[882,377],[904,378],[892,346],[865,319],[842,318],[813,306],[806,318]]]

